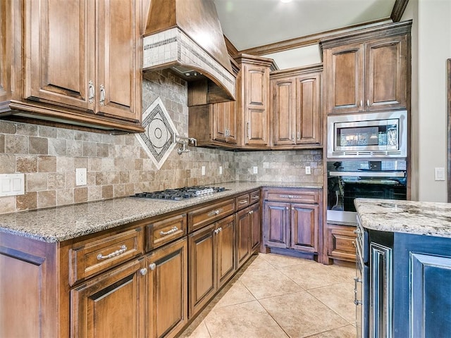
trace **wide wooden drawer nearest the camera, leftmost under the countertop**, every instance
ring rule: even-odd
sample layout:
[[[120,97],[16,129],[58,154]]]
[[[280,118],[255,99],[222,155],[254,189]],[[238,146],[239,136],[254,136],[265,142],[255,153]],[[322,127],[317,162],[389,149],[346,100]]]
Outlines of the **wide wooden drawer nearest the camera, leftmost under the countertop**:
[[[101,273],[142,253],[142,228],[113,234],[69,250],[69,284]]]

